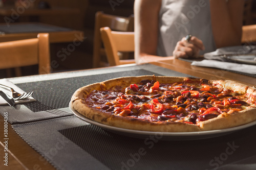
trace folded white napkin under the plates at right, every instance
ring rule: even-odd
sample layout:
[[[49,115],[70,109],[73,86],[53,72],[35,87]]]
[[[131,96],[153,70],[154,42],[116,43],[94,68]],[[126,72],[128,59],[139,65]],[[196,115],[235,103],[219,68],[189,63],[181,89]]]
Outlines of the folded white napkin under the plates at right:
[[[217,60],[202,60],[193,61],[191,65],[202,66],[202,67],[214,67],[226,70],[243,72],[246,74],[256,75],[256,65],[229,63]]]

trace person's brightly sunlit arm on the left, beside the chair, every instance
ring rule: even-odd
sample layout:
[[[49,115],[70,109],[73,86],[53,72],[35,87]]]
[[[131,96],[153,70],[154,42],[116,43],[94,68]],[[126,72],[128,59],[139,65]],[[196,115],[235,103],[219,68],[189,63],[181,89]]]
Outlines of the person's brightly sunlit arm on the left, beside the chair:
[[[145,63],[166,57],[156,56],[158,16],[161,0],[135,0],[135,61]]]

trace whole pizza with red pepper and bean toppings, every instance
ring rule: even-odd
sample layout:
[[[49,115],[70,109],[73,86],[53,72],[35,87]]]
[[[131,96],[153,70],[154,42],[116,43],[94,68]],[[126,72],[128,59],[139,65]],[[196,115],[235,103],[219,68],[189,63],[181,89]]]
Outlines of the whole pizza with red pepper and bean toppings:
[[[70,106],[98,123],[152,132],[220,130],[256,120],[256,89],[230,80],[122,77],[84,86]]]

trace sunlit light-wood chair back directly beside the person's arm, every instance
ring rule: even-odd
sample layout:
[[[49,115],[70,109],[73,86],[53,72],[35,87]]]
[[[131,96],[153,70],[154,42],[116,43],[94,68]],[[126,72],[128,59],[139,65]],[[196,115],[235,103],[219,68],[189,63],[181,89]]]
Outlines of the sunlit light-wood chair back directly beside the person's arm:
[[[112,31],[103,27],[100,33],[110,66],[135,63],[134,59],[120,60],[118,56],[118,52],[134,52],[134,32]]]

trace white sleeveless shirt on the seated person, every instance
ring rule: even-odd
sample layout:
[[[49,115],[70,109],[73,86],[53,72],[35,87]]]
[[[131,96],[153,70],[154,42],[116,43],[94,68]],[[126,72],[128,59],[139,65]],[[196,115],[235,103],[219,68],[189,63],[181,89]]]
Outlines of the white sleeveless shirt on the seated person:
[[[173,56],[177,42],[187,34],[203,41],[201,55],[216,50],[209,0],[162,0],[157,55]]]

